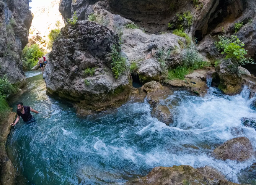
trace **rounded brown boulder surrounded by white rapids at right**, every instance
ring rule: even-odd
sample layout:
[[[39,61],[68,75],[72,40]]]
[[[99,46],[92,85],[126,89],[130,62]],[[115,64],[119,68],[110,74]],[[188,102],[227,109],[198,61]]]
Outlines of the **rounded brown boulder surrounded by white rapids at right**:
[[[253,156],[253,146],[246,137],[236,137],[214,149],[218,159],[245,161]]]

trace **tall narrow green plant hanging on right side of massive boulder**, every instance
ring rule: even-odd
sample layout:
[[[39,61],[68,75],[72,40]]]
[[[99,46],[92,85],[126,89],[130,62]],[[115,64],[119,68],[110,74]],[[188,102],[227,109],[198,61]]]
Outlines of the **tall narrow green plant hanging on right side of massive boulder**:
[[[112,57],[112,72],[114,77],[118,79],[118,77],[126,71],[126,58],[121,54],[121,45],[113,45],[111,48],[111,57]]]

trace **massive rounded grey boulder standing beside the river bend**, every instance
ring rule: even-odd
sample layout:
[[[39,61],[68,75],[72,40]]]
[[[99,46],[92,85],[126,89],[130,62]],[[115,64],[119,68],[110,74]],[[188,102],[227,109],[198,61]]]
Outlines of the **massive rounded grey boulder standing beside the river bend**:
[[[127,72],[115,79],[111,71],[111,47],[118,42],[110,29],[94,22],[62,28],[44,74],[47,93],[95,111],[120,106],[130,85]]]

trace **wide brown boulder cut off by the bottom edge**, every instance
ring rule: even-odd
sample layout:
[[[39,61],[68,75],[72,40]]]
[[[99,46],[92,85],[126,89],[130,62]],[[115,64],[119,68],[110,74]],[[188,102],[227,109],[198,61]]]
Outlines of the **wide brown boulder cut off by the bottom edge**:
[[[194,169],[191,166],[155,167],[145,177],[130,180],[127,185],[237,185],[224,180],[221,172],[202,167]]]

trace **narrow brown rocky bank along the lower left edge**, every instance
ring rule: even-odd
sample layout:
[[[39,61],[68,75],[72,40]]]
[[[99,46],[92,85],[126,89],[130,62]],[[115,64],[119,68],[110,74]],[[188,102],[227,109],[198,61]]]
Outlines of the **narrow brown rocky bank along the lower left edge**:
[[[6,141],[10,134],[11,123],[15,120],[16,113],[10,112],[9,116],[0,121],[0,185],[13,185],[15,182],[15,168],[6,151]]]

